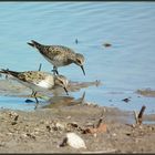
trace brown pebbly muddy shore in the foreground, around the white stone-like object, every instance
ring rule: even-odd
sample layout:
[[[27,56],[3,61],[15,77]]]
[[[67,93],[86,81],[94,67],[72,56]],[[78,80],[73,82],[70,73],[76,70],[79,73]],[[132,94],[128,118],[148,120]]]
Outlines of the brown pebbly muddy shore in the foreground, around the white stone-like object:
[[[104,128],[94,128],[102,117]],[[133,112],[93,104],[76,104],[33,112],[0,110],[0,153],[154,153],[155,115],[143,115],[136,125]],[[86,148],[61,146],[66,133],[78,134]]]

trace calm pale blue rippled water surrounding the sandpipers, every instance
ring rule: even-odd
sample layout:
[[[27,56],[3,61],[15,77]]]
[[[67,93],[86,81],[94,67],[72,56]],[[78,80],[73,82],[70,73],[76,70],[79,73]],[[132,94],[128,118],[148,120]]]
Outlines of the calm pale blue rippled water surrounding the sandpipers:
[[[72,93],[100,105],[155,111],[154,97],[138,97],[137,89],[155,90],[154,2],[1,2],[0,68],[44,71],[52,65],[27,42],[62,44],[83,53],[86,76],[74,64],[59,71],[72,81],[101,80],[102,86]],[[79,43],[75,43],[75,39]],[[112,44],[105,48],[102,44]],[[131,102],[122,100],[132,96]],[[9,104],[6,102],[9,101]],[[25,110],[22,100],[0,97],[0,106]]]

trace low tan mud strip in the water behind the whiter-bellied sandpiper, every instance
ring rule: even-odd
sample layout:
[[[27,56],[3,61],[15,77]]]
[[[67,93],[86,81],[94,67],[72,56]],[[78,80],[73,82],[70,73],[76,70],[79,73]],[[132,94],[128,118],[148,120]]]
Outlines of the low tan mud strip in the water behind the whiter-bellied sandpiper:
[[[9,96],[18,96],[18,97],[30,97],[32,91],[29,87],[25,87],[21,83],[17,82],[16,80],[7,79],[7,80],[0,80],[0,94],[1,95],[9,95]],[[71,92],[78,92],[81,89],[90,87],[90,86],[99,86],[101,85],[100,81],[94,82],[69,82],[68,91]],[[38,96],[45,95],[46,97],[51,96],[60,96],[62,94],[65,94],[63,87],[56,87],[54,90],[45,90],[38,92]],[[45,97],[44,97],[45,99]]]

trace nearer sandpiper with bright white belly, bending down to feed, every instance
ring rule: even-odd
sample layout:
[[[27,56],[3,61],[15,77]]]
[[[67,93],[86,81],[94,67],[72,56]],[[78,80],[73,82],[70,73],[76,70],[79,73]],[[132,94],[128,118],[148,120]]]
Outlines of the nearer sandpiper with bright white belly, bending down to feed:
[[[31,96],[33,96],[39,103],[37,99],[37,92],[43,90],[53,90],[55,87],[63,87],[68,94],[68,79],[64,75],[53,75],[48,72],[42,71],[25,71],[25,72],[16,72],[10,70],[1,70],[0,73],[4,73],[11,75],[18,82],[22,83],[27,87],[32,90]]]

